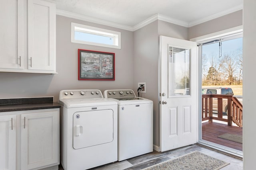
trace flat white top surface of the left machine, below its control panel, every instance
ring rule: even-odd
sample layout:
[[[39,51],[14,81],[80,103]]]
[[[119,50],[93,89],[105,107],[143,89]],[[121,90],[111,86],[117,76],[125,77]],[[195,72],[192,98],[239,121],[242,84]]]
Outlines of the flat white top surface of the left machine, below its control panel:
[[[61,99],[58,103],[66,108],[117,105],[117,102],[107,98]]]

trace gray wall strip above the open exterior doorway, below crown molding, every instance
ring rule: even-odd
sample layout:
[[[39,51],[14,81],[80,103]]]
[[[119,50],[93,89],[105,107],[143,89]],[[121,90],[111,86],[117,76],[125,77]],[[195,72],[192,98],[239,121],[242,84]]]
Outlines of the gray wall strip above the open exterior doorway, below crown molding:
[[[242,10],[240,10],[188,28],[188,39],[215,33],[225,29],[240,26],[242,24],[243,14]]]

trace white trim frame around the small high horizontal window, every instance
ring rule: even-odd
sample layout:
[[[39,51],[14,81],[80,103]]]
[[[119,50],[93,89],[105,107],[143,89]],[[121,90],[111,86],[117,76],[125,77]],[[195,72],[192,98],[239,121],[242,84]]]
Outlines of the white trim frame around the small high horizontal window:
[[[114,37],[115,45],[108,45],[108,44],[102,44],[102,43],[94,43],[89,41],[80,41],[75,39],[75,30],[76,27],[81,28],[81,30],[86,32],[92,32],[94,34],[101,34],[106,36]],[[71,42],[72,43],[80,43],[80,44],[87,44],[87,45],[96,45],[101,47],[109,47],[109,48],[115,48],[115,49],[121,49],[121,33],[117,31],[112,31],[108,29],[102,29],[98,27],[91,27],[88,25],[82,25],[79,23],[71,23]]]

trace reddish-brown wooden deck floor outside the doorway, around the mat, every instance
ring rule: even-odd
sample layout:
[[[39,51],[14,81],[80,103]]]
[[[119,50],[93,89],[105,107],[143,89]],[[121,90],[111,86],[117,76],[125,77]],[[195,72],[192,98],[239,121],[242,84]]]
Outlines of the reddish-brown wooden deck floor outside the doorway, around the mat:
[[[218,137],[225,133],[230,133],[233,135],[242,135],[242,128],[237,126],[228,126],[227,124],[216,123],[216,122],[202,123],[202,139],[203,140],[242,151],[242,143],[229,141],[229,140]]]

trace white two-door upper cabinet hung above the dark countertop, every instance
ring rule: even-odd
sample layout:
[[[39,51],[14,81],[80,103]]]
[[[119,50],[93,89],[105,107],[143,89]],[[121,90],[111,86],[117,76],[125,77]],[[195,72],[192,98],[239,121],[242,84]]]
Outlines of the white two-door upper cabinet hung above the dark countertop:
[[[56,1],[0,1],[0,71],[56,73]]]

